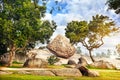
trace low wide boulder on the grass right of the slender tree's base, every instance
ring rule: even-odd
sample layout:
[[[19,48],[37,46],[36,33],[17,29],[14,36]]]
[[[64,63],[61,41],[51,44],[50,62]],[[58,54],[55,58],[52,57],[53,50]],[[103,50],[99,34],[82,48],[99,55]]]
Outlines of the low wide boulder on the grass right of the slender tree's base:
[[[116,67],[113,64],[103,60],[96,61],[90,64],[90,66],[102,69],[116,69]]]

